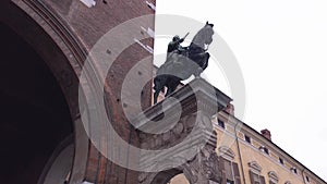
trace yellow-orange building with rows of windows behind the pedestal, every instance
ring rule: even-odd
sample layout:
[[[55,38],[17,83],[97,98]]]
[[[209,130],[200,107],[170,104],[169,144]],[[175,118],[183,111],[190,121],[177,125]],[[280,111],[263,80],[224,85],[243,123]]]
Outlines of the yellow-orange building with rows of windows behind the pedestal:
[[[261,133],[233,115],[230,106],[213,118],[217,132],[217,155],[226,184],[325,184],[271,140],[268,130]],[[170,184],[187,184],[180,174]]]

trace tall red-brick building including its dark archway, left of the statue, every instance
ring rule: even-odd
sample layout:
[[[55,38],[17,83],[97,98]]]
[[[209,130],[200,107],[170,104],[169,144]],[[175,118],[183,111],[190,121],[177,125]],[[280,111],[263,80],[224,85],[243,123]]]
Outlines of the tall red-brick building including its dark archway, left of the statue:
[[[98,60],[81,73],[92,48],[108,32],[143,15],[154,15],[155,0],[3,0],[0,2],[2,169],[1,183],[137,183],[138,173],[119,167],[96,148],[85,132],[78,107],[80,91],[87,99],[97,88],[93,76],[106,81],[104,101],[117,133],[137,145],[136,132],[123,115],[123,78],[143,58],[152,57],[153,39],[133,40],[99,75]],[[135,25],[135,34],[152,34],[154,19]],[[117,35],[122,41],[126,39]],[[9,47],[14,45],[14,47]],[[116,48],[108,48],[107,54]],[[102,61],[101,61],[102,62]],[[153,63],[145,65],[150,76]],[[82,95],[81,95],[82,93]],[[150,106],[152,86],[140,94],[142,108]],[[101,135],[99,135],[100,138]],[[102,140],[102,139],[101,139]]]

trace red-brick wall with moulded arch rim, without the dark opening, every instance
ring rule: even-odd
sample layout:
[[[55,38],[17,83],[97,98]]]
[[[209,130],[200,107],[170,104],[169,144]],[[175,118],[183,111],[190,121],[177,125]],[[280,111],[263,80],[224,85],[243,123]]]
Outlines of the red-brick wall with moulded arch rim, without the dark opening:
[[[107,151],[107,149],[109,149],[106,147],[108,139],[104,138],[99,142],[101,144],[100,148],[96,148],[90,144],[85,133],[78,108],[78,84],[86,84],[80,96],[83,100],[95,94],[95,90],[105,88],[105,97],[100,97],[101,99],[99,100],[101,100],[101,102],[105,101],[107,116],[112,120],[111,122],[114,128],[117,128],[116,131],[122,135],[124,140],[132,145],[138,144],[137,133],[131,128],[122,113],[123,105],[119,96],[120,91],[118,90],[121,87],[120,79],[122,79],[123,75],[135,64],[135,60],[138,61],[145,58],[144,56],[146,54],[148,57],[149,53],[146,50],[140,49],[137,44],[134,44],[129,47],[123,54],[120,54],[121,58],[114,66],[120,70],[118,76],[112,72],[114,70],[110,70],[107,75],[99,74],[100,72],[98,71],[100,71],[100,66],[98,66],[96,61],[92,61],[92,69],[86,71],[86,78],[82,82],[80,81],[81,78],[78,78],[87,52],[106,32],[130,19],[154,13],[146,7],[146,3],[143,4],[131,1],[116,3],[114,5],[114,11],[111,11],[108,7],[104,9],[104,4],[101,7],[100,3],[93,7],[93,9],[87,9],[81,1],[76,0],[0,1],[0,22],[11,27],[34,48],[56,77],[65,97],[71,113],[75,145],[70,183],[82,183],[83,181],[118,183],[121,179],[129,182],[135,181],[136,177],[136,174],[132,171],[117,167],[116,163],[108,161],[105,156],[99,154],[99,150]],[[128,8],[133,9],[133,11],[129,11],[122,15],[119,9],[126,10]],[[149,20],[149,22],[145,24],[153,25],[154,22]],[[145,26],[148,25],[143,25],[143,27]],[[146,39],[146,41],[153,44],[150,38]],[[110,54],[109,52],[111,51],[107,50],[108,54]],[[126,61],[123,66],[120,62],[122,60]],[[148,61],[149,64],[146,71],[152,71],[153,65],[150,60]],[[145,72],[141,73],[140,77],[141,75],[144,77]],[[92,76],[99,76],[106,79],[106,85],[97,86],[99,84],[92,81]],[[141,96],[144,97],[142,100],[142,108],[144,109],[150,106],[150,86],[152,85],[148,84],[148,87],[145,87],[144,90],[140,93]],[[114,118],[112,118],[113,114]],[[121,126],[124,127],[121,128]],[[121,170],[124,170],[124,172],[120,172]],[[102,171],[106,172],[104,173]],[[118,172],[116,171],[119,172],[119,176],[117,176]]]

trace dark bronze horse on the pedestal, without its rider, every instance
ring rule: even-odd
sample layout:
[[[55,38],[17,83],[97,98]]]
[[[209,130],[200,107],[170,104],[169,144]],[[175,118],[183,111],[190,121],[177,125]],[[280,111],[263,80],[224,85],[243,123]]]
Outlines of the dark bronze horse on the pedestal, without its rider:
[[[158,69],[154,78],[154,102],[160,91],[167,93],[165,97],[172,94],[181,81],[187,79],[191,75],[199,77],[199,74],[208,66],[210,54],[207,52],[208,46],[213,42],[214,24],[208,22],[197,32],[192,42],[182,52],[173,51],[167,56],[166,62]]]

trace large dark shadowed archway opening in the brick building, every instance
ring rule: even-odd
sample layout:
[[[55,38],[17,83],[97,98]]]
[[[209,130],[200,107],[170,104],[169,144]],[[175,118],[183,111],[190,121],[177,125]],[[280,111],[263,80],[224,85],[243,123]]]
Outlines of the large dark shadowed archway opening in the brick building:
[[[35,184],[73,122],[46,62],[3,23],[0,33],[0,183]]]

